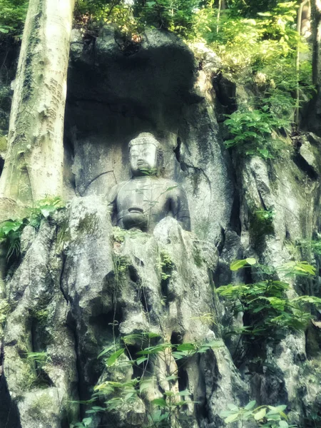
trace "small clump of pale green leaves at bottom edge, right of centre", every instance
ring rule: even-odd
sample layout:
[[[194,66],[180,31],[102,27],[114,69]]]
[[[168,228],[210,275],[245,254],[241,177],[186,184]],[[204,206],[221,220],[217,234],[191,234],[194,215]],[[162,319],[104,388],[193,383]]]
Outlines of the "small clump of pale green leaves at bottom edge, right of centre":
[[[287,415],[284,410],[287,408],[285,404],[280,406],[259,406],[255,407],[256,402],[251,401],[245,407],[238,407],[235,404],[228,404],[229,410],[220,413],[221,417],[225,417],[225,423],[231,424],[236,421],[256,422],[258,427],[265,428],[290,428],[296,425],[287,423]]]

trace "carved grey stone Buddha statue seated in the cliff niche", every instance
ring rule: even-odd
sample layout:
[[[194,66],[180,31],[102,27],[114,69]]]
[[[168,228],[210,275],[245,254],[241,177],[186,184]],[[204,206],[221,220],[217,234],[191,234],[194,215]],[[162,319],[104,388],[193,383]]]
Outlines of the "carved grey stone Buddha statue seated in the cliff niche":
[[[151,232],[170,215],[190,230],[185,192],[178,183],[161,177],[163,151],[151,133],[141,133],[129,143],[132,177],[113,187],[109,210],[113,223],[122,229]]]

